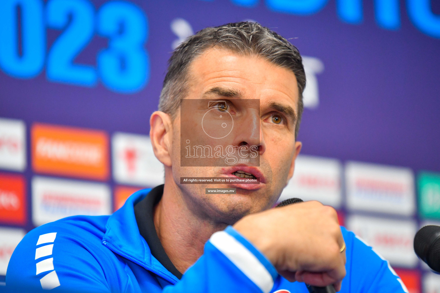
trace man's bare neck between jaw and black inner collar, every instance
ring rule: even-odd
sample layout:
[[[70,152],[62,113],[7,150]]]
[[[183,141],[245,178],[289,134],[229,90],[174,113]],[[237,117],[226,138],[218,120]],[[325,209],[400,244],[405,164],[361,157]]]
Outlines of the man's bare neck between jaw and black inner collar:
[[[154,208],[154,226],[169,259],[183,274],[202,256],[209,237],[227,225],[195,215],[180,188],[165,179],[162,199]]]

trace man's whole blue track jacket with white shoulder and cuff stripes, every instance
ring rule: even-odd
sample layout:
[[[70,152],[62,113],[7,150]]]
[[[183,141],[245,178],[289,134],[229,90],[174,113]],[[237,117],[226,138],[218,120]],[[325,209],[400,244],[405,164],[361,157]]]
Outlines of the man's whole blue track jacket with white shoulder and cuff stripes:
[[[308,293],[304,283],[282,278],[231,226],[214,233],[202,257],[177,279],[139,234],[133,206],[149,191],[134,193],[110,216],[67,217],[33,229],[12,254],[3,288],[11,293]],[[340,292],[408,292],[388,261],[341,230],[347,275]]]

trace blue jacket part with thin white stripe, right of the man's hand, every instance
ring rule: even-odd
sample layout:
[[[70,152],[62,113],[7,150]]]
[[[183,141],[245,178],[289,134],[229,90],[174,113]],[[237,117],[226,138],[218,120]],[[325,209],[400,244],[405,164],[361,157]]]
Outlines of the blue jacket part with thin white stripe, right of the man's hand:
[[[345,228],[342,228],[345,230]],[[344,231],[343,231],[344,232]],[[380,253],[368,246],[361,238],[352,232],[347,232],[351,249],[348,258],[351,258],[349,268],[350,279],[344,279],[342,286],[348,286],[347,292],[359,293],[408,293],[402,280],[391,268],[388,260]]]

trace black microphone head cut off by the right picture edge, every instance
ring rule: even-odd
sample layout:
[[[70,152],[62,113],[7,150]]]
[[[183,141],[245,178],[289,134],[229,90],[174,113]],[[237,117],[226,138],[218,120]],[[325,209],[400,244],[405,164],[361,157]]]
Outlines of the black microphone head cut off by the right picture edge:
[[[414,252],[429,268],[440,273],[440,226],[428,225],[418,230]]]

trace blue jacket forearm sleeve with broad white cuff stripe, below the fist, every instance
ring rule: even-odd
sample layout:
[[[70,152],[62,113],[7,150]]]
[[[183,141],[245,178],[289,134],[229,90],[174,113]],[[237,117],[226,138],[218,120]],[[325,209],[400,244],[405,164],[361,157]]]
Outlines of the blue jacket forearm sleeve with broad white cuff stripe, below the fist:
[[[211,236],[202,257],[163,293],[269,293],[278,277],[269,260],[229,226]]]

